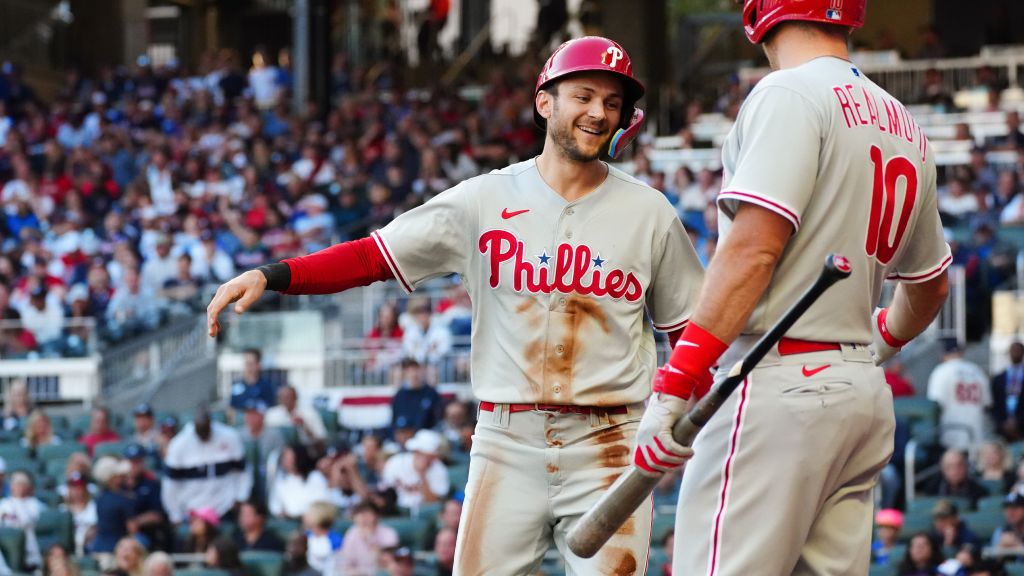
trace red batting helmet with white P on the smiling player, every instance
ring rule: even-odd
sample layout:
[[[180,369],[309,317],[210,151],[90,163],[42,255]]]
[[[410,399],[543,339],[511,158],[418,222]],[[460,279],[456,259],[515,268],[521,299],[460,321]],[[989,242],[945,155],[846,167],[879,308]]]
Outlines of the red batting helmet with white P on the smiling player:
[[[636,107],[644,93],[643,84],[633,76],[633,61],[617,42],[600,36],[584,36],[565,42],[555,49],[541,70],[534,95],[570,74],[592,71],[618,76],[626,90],[622,122],[608,145],[608,156],[615,158],[640,134],[644,118],[643,111]],[[547,121],[536,107],[534,120],[541,128],[547,127]]]

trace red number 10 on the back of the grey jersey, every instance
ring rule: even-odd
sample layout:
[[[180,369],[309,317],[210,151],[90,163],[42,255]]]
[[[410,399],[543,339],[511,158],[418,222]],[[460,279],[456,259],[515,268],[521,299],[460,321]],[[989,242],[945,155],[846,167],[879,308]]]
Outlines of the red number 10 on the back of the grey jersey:
[[[902,156],[885,162],[882,149],[878,146],[871,147],[871,164],[874,165],[874,189],[871,192],[871,212],[867,220],[867,243],[864,249],[868,256],[874,256],[880,263],[888,264],[896,255],[910,222],[913,203],[918,199],[918,167]],[[897,184],[900,179],[903,180],[903,202],[894,230]]]

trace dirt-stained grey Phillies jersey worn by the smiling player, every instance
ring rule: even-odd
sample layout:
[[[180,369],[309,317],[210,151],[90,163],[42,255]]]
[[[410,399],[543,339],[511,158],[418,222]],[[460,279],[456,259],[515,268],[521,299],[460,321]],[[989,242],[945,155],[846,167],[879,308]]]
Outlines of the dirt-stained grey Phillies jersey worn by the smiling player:
[[[702,269],[665,196],[609,166],[566,202],[528,160],[468,179],[373,234],[402,288],[458,274],[471,377],[496,403],[618,406],[650,393],[658,330],[682,327]]]

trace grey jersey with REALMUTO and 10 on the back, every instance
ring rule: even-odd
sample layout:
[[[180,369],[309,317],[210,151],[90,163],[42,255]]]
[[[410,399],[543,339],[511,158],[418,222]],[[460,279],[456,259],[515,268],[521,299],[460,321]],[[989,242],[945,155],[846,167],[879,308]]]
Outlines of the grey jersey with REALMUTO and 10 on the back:
[[[851,63],[819,57],[766,76],[722,150],[719,227],[740,202],[775,211],[794,236],[744,329],[769,329],[819,274],[825,256],[853,274],[829,288],[787,335],[868,343],[888,278],[924,282],[951,261],[935,191],[935,161],[906,108]]]

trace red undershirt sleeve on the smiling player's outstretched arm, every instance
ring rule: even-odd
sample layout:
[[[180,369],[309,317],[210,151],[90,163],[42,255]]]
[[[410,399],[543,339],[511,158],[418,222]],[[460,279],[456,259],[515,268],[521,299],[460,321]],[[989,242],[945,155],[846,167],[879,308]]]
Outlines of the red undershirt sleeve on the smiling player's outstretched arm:
[[[333,294],[394,278],[369,238],[335,244],[284,262],[292,271],[286,294]]]

